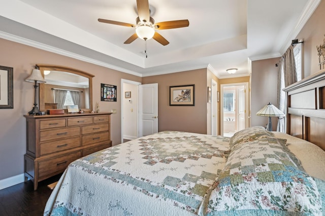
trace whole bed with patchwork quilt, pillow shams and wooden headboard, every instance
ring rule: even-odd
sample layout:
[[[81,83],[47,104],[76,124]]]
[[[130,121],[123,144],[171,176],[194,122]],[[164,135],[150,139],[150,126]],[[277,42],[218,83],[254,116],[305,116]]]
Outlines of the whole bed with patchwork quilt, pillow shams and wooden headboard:
[[[287,134],[262,126],[231,138],[164,131],[116,145],[72,162],[44,215],[325,215],[325,141],[309,142],[325,134],[310,131],[325,117],[325,84],[303,86],[286,91]],[[316,116],[292,107],[306,86]]]

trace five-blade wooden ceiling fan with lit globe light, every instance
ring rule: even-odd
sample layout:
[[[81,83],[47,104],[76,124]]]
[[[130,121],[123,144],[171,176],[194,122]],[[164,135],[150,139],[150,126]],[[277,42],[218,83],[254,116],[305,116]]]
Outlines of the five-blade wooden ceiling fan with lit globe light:
[[[125,40],[124,44],[131,44],[135,39],[140,37],[143,40],[149,40],[153,38],[158,41],[161,45],[168,45],[169,41],[161,36],[155,30],[160,29],[172,29],[172,28],[182,28],[187,27],[189,25],[188,20],[174,20],[174,21],[165,21],[155,23],[154,19],[150,17],[150,9],[148,0],[137,0],[137,8],[138,8],[138,17],[136,19],[135,24],[129,24],[124,22],[118,22],[113,20],[106,19],[98,19],[99,22],[109,23],[114,25],[121,25],[126,27],[136,28],[136,33],[134,33],[131,37]]]

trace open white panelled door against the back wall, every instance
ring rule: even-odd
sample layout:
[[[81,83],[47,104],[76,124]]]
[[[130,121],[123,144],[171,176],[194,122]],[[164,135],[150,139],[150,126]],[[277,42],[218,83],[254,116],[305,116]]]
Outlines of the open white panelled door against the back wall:
[[[158,132],[158,83],[139,85],[139,137]]]

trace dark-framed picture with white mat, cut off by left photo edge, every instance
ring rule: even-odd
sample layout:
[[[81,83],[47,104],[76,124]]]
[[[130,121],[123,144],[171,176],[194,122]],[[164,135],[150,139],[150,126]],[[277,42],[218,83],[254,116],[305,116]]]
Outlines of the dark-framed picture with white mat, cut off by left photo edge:
[[[14,108],[14,69],[0,66],[0,109]]]

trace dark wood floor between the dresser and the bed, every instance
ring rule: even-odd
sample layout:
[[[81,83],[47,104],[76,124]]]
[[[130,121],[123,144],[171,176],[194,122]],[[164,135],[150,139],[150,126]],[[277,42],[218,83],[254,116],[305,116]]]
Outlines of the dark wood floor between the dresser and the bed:
[[[43,215],[46,201],[52,192],[47,185],[56,182],[59,177],[40,182],[36,191],[31,181],[0,190],[0,215]]]

